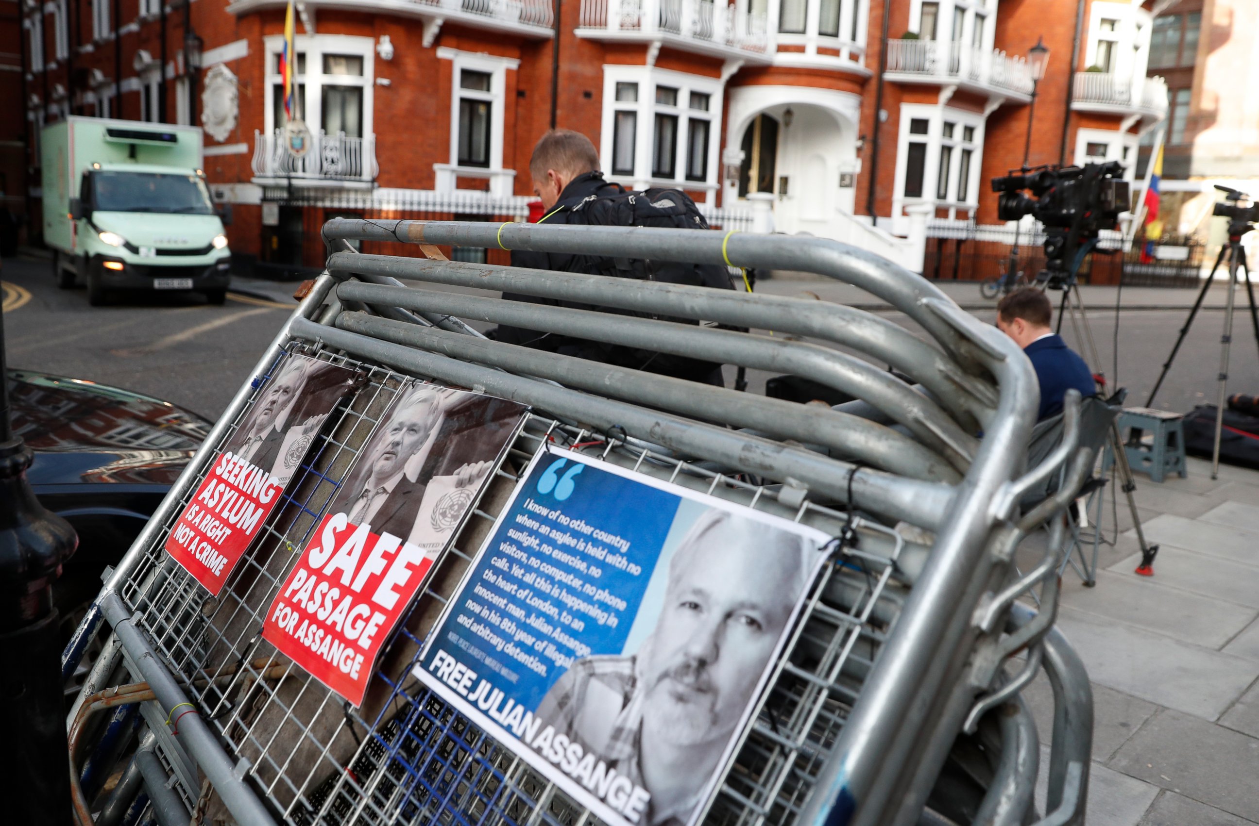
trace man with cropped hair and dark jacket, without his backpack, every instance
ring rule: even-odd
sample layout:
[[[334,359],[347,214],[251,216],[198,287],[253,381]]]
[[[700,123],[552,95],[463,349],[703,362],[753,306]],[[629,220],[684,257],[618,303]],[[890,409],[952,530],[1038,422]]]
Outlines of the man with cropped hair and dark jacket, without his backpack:
[[[529,173],[533,179],[534,194],[543,202],[543,218],[539,220],[539,224],[569,224],[573,209],[587,199],[612,197],[624,192],[624,189],[619,185],[608,184],[603,180],[603,172],[599,171],[599,153],[594,148],[594,143],[580,132],[573,132],[572,129],[551,129],[543,135],[534,147],[534,155],[529,162]],[[577,256],[567,253],[511,250],[511,265],[529,269],[580,273],[589,272],[587,269],[589,262],[590,256]],[[590,272],[590,274],[599,273]],[[502,297],[507,300],[530,302],[550,307],[572,307],[612,313],[622,312],[594,304],[559,302],[519,293],[504,293]],[[647,372],[676,375],[710,385],[723,386],[724,383],[720,366],[710,362],[677,358],[657,360],[651,355],[643,358],[642,351],[633,351],[626,347],[609,347],[598,342],[507,324],[500,324],[494,333],[494,338],[509,344],[520,344],[590,361],[617,363],[646,370]]]

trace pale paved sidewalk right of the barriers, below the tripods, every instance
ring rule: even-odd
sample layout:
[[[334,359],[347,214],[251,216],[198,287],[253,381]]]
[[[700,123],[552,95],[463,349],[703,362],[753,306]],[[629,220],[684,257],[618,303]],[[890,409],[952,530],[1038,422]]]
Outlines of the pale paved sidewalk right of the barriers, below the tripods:
[[[1097,587],[1063,577],[1059,627],[1093,680],[1088,822],[1259,823],[1259,471],[1221,465],[1212,482],[1190,459],[1187,479],[1136,480],[1146,537],[1161,546],[1155,577],[1133,573],[1122,499]],[[1113,536],[1109,498],[1103,524]],[[1047,743],[1044,676],[1024,697]],[[1039,800],[1044,810],[1042,788]]]

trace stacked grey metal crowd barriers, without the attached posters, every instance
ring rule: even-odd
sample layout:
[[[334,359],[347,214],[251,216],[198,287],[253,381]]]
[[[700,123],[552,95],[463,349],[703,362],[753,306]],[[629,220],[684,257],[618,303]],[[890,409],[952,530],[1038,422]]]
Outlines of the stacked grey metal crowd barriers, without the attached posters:
[[[122,713],[106,720],[96,712],[138,708],[142,720],[113,792],[82,817],[125,822],[130,807],[161,823],[213,812],[248,825],[597,822],[408,676],[522,469],[554,443],[830,536],[855,529],[810,592],[734,767],[705,803],[705,822],[1083,823],[1092,697],[1080,661],[1053,629],[1063,519],[1050,519],[1030,573],[1019,575],[1013,558],[1070,500],[1093,454],[1078,446],[1079,406],[1069,400],[1061,446],[1024,466],[1036,380],[1005,336],[918,275],[821,239],[358,219],[330,221],[324,236],[325,274],[67,649],[69,673],[108,631],[71,712],[76,776],[92,761],[131,754],[117,743]],[[364,255],[355,240],[419,244],[427,258]],[[449,262],[437,251],[443,245],[818,273],[886,300],[920,331],[816,300]],[[504,290],[635,314],[506,302]],[[794,405],[520,348],[473,329],[494,323],[794,372],[859,401]],[[295,352],[361,368],[366,387],[335,411],[286,507],[212,598],[162,543],[262,378]],[[279,551],[305,547],[408,377],[533,411],[355,710],[263,641],[262,619],[295,557]],[[1055,473],[1064,476],[1059,493],[1020,512],[1022,494]],[[1030,601],[1039,611],[1025,607]],[[1055,698],[1044,813],[1032,802],[1040,744],[1019,695],[1040,670]]]

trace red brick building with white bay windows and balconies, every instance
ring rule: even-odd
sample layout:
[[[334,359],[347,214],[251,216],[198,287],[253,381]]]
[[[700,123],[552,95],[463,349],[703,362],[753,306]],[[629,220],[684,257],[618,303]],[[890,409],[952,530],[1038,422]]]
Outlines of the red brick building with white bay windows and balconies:
[[[313,230],[347,211],[522,216],[555,123],[609,179],[682,187],[714,223],[772,211],[920,267],[928,218],[996,223],[987,180],[1022,162],[1037,40],[1029,162],[1133,173],[1167,108],[1147,63],[1168,1],[305,0],[316,140],[293,158],[286,0],[23,0],[26,112],[204,123],[232,249],[263,260],[317,262]]]

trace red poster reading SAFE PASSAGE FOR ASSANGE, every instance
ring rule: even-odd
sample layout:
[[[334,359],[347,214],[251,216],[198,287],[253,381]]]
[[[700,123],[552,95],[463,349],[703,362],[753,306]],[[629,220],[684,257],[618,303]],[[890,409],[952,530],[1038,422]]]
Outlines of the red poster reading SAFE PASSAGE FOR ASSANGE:
[[[403,390],[267,611],[262,636],[355,707],[376,656],[515,434],[516,402]]]

